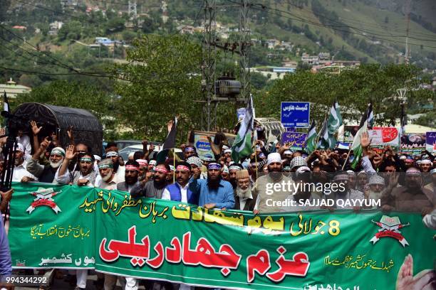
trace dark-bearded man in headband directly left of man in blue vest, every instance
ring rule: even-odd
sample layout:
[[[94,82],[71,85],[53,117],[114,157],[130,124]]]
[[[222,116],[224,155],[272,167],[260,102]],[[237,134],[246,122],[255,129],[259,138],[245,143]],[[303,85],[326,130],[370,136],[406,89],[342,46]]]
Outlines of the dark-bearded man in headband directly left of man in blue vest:
[[[162,192],[167,186],[167,174],[170,172],[170,166],[167,164],[157,164],[154,168],[155,176],[151,181],[141,181],[136,183],[130,190],[133,198],[162,198]]]

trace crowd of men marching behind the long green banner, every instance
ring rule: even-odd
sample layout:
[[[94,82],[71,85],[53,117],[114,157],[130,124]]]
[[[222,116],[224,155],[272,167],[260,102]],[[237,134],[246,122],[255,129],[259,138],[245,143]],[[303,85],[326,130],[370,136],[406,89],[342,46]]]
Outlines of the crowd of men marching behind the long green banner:
[[[436,227],[435,156],[427,151],[420,156],[408,156],[390,147],[380,153],[371,148],[368,134],[360,138],[363,157],[353,168],[348,150],[316,150],[308,154],[304,149],[291,150],[289,144],[267,144],[261,140],[255,142],[254,153],[241,160],[232,160],[232,149],[225,141],[219,144],[210,141],[214,154],[201,158],[192,144],[182,144],[183,156],[169,155],[159,163],[153,146],[143,141],[142,151],[123,160],[114,142],[109,142],[104,156],[100,156],[83,143],[72,142],[62,148],[56,135],[38,136],[40,131],[41,127],[31,122],[33,146],[28,143],[30,138],[20,136],[26,144],[19,143],[16,149],[13,181],[116,189],[129,192],[133,198],[175,200],[209,209],[247,210],[254,214],[342,208],[356,212],[375,208],[400,210],[421,213],[425,225]],[[0,139],[0,146],[5,142],[6,139]],[[332,189],[326,183],[341,184],[341,187]],[[292,190],[276,190],[276,185],[282,184],[294,186]],[[315,186],[323,190],[314,190]],[[271,188],[274,188],[272,192]],[[2,212],[11,198],[13,190],[1,192]],[[326,199],[380,200],[380,203],[378,206],[349,203],[338,208],[339,203],[319,203]],[[297,203],[282,203],[284,200]],[[87,277],[88,270],[76,271],[73,280],[76,289],[85,288]],[[117,279],[123,289],[138,288],[139,281],[133,277],[109,274],[98,274],[96,286],[110,290]],[[160,284],[160,287],[170,289],[172,285]],[[179,287],[190,289],[183,284]]]

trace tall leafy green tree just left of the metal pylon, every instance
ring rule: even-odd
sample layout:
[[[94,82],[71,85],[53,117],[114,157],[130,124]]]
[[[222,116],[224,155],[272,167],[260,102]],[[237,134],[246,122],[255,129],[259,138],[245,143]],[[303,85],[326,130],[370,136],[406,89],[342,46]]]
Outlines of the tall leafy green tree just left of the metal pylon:
[[[118,82],[118,112],[123,124],[136,138],[162,141],[165,124],[179,115],[179,132],[187,132],[200,122],[202,100],[199,68],[201,47],[185,36],[147,35],[133,41],[128,64],[115,65],[113,75],[129,82]],[[178,134],[179,138],[185,136]]]

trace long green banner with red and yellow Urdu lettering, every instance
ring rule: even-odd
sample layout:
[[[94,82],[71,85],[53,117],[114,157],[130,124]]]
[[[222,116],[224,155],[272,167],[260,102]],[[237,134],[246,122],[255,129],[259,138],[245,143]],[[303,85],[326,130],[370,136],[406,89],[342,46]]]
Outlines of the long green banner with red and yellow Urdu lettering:
[[[418,214],[252,215],[47,183],[14,183],[9,227],[14,268],[227,289],[395,289],[406,257],[433,269],[434,235]]]

